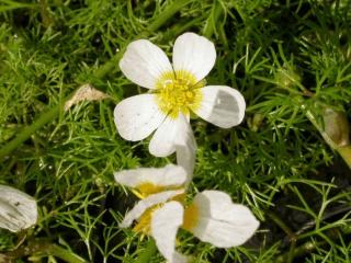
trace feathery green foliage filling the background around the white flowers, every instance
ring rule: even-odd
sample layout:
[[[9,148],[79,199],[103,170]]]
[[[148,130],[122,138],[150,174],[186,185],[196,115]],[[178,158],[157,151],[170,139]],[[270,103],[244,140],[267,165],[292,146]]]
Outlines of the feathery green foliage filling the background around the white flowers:
[[[25,233],[0,231],[0,262],[56,262],[65,260],[61,250],[71,262],[127,263],[143,254],[148,238],[117,226],[135,199],[113,172],[176,158],[156,159],[147,141],[117,135],[115,104],[139,92],[117,60],[140,37],[170,54],[186,31],[215,43],[207,82],[234,87],[247,102],[236,128],[192,123],[191,193],[225,191],[261,227],[228,250],[181,232],[179,250],[194,262],[350,262],[348,157],[320,135],[324,108],[351,116],[350,10],[347,0],[1,1],[0,183],[35,196],[41,217]],[[26,129],[83,83],[111,98],[53,110]],[[22,132],[25,139],[9,150]],[[152,262],[162,258],[155,253]]]

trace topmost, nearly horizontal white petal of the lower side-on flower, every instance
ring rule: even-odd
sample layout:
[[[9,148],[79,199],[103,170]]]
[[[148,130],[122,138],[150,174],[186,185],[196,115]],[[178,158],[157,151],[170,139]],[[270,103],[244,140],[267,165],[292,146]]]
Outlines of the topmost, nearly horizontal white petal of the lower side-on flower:
[[[137,187],[143,183],[157,186],[177,187],[186,181],[186,172],[182,167],[168,164],[165,168],[139,168],[114,173],[116,182],[128,187]]]

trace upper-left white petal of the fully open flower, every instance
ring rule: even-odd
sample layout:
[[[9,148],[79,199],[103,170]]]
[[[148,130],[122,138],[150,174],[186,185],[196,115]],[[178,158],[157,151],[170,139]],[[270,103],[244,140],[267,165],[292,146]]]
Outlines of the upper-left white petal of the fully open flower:
[[[155,82],[163,72],[172,71],[166,54],[151,42],[132,42],[120,60],[122,72],[138,85],[155,89]]]

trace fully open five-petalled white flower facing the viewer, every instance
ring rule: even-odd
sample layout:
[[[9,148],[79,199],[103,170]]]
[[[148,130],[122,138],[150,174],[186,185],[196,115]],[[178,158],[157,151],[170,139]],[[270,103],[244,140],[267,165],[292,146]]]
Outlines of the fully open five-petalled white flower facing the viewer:
[[[181,141],[193,112],[223,128],[238,125],[246,103],[237,90],[226,85],[205,85],[204,78],[213,68],[216,50],[212,42],[194,33],[176,39],[173,64],[156,45],[146,39],[131,43],[120,61],[123,73],[134,83],[150,90],[120,102],[114,121],[120,135],[127,140],[141,140],[154,130],[149,151],[166,157]]]

